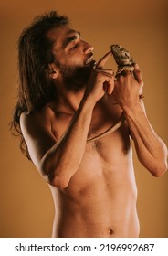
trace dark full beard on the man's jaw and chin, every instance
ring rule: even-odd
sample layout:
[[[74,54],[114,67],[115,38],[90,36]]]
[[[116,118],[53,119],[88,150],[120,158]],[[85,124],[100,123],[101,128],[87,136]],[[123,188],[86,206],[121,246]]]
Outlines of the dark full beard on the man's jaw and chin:
[[[68,91],[79,92],[86,88],[91,73],[88,66],[64,66],[59,64],[65,87]]]

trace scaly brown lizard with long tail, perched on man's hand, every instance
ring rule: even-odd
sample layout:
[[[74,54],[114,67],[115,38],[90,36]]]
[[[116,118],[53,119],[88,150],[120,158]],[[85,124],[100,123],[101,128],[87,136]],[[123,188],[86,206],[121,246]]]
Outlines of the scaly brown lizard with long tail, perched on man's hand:
[[[113,58],[115,59],[117,65],[118,65],[118,69],[117,69],[115,77],[117,78],[119,75],[121,75],[121,72],[123,72],[123,71],[130,71],[133,73],[135,62],[131,58],[130,52],[127,49],[123,48],[121,45],[111,45],[110,50],[112,52]],[[142,96],[140,96],[140,99],[141,98],[142,98]],[[109,133],[115,132],[119,127],[121,127],[122,123],[124,123],[124,122],[125,122],[125,116],[122,112],[121,117],[119,118],[119,121],[117,123],[112,125],[105,132],[100,133],[99,135],[88,139],[87,143],[96,141]]]

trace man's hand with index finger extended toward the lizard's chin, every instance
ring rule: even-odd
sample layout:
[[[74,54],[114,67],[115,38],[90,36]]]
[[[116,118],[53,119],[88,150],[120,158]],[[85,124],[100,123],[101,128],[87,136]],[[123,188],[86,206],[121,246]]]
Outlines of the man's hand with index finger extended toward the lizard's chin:
[[[100,59],[89,77],[85,95],[87,97],[90,96],[95,103],[104,96],[105,92],[111,94],[114,89],[114,71],[112,69],[103,69],[110,56],[111,52]]]

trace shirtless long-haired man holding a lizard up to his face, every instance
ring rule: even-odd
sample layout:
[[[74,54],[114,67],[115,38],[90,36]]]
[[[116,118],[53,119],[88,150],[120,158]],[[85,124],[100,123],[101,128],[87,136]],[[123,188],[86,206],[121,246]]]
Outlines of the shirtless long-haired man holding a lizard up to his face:
[[[56,12],[38,17],[19,41],[21,86],[13,124],[51,189],[53,237],[138,237],[131,138],[153,176],[166,171],[167,149],[139,100],[138,65],[134,77],[126,72],[115,80],[113,70],[105,69],[111,53],[95,67],[92,51],[68,18]],[[87,142],[122,111],[121,128]]]

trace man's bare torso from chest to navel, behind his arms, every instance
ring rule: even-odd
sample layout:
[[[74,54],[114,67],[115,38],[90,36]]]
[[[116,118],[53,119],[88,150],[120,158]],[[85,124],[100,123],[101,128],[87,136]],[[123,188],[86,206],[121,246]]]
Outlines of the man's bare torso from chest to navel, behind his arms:
[[[107,112],[106,106],[100,105],[89,137],[117,121],[121,110],[116,105],[111,109],[116,111]],[[52,116],[52,132],[57,139],[70,120],[70,115]],[[79,170],[68,187],[50,188],[56,208],[53,237],[139,236],[137,189],[126,123],[116,132],[86,144]]]

